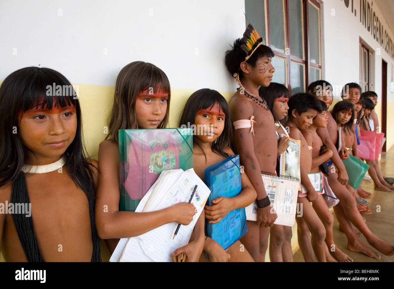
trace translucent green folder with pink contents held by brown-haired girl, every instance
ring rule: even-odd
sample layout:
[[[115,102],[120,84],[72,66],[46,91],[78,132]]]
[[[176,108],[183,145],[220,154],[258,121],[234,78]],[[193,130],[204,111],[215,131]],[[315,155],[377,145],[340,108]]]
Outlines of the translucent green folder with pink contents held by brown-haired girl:
[[[169,169],[193,168],[193,129],[119,130],[119,210],[134,212]]]

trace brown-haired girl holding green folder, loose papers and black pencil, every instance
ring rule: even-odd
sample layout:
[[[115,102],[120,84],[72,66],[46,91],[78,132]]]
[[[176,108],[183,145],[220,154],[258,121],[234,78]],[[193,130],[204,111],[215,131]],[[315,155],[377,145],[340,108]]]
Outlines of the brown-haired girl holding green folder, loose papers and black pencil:
[[[102,239],[134,237],[162,225],[188,225],[197,211],[193,204],[180,202],[154,212],[119,211],[119,129],[157,129],[168,123],[170,85],[167,75],[151,63],[134,61],[122,68],[116,79],[110,116],[109,136],[99,146],[99,186],[96,223]],[[149,175],[149,168],[146,168]],[[141,172],[142,173],[142,172]],[[103,210],[105,208],[105,210]],[[204,215],[194,227],[191,242],[178,249],[188,261],[198,261],[204,247]],[[119,240],[107,240],[112,253]],[[178,250],[173,256],[177,255]]]

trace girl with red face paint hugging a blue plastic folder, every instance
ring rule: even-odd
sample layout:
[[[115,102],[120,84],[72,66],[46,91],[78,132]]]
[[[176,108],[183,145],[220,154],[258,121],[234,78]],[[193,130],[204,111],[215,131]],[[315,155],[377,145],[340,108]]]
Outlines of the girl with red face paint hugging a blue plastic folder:
[[[203,128],[203,131],[197,130],[197,133],[193,133],[193,168],[200,179],[204,180],[206,168],[234,155],[229,147],[233,131],[226,99],[216,90],[197,90],[186,102],[179,126],[188,123]],[[247,175],[241,171],[241,177],[242,191],[238,196],[218,197],[212,200],[214,205],[205,206],[205,218],[210,224],[219,223],[230,211],[245,208],[256,199],[256,191]],[[230,254],[229,261],[253,262],[247,250],[240,250],[240,247],[242,244],[237,241],[226,253],[216,241],[208,238],[204,250],[208,252],[211,261],[227,261],[227,254]],[[205,261],[204,259],[203,253],[200,260]]]

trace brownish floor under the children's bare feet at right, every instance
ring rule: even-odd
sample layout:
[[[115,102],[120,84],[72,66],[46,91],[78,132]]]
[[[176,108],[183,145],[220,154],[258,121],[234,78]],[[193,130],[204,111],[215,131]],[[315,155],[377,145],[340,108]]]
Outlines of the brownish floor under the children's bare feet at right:
[[[382,153],[381,160],[379,161],[380,169],[383,177],[394,177],[394,149],[388,153]],[[372,193],[370,202],[371,215],[362,215],[366,219],[366,223],[371,231],[380,239],[387,243],[394,244],[394,193],[374,190],[374,182],[372,180],[362,180],[361,187]],[[334,192],[335,193],[335,192]],[[377,205],[380,205],[380,211],[376,212]],[[394,257],[389,257],[381,254],[380,260],[375,260],[364,254],[352,252],[346,249],[348,243],[345,233],[338,230],[338,221],[334,214],[334,241],[342,252],[348,254],[353,258],[354,262],[393,262]],[[364,236],[359,237],[361,243],[368,248],[372,247],[368,244]],[[294,253],[295,262],[303,262],[301,250]]]

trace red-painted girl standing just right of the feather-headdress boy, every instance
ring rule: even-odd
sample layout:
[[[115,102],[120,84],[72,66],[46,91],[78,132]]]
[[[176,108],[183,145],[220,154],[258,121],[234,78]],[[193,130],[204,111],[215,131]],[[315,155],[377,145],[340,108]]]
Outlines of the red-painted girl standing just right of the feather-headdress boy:
[[[279,157],[289,146],[289,135],[281,121],[284,120],[287,115],[287,110],[289,108],[287,102],[290,98],[290,92],[284,85],[271,82],[268,87],[260,87],[258,94],[266,99],[268,108],[271,110],[275,121],[275,130],[278,140],[277,157]],[[284,135],[283,137],[281,137],[282,134]],[[279,162],[277,162],[277,171],[279,171],[278,165]],[[292,228],[289,226],[273,225],[269,236],[269,260],[271,262],[292,262]],[[279,252],[279,254],[273,254],[275,252]]]

